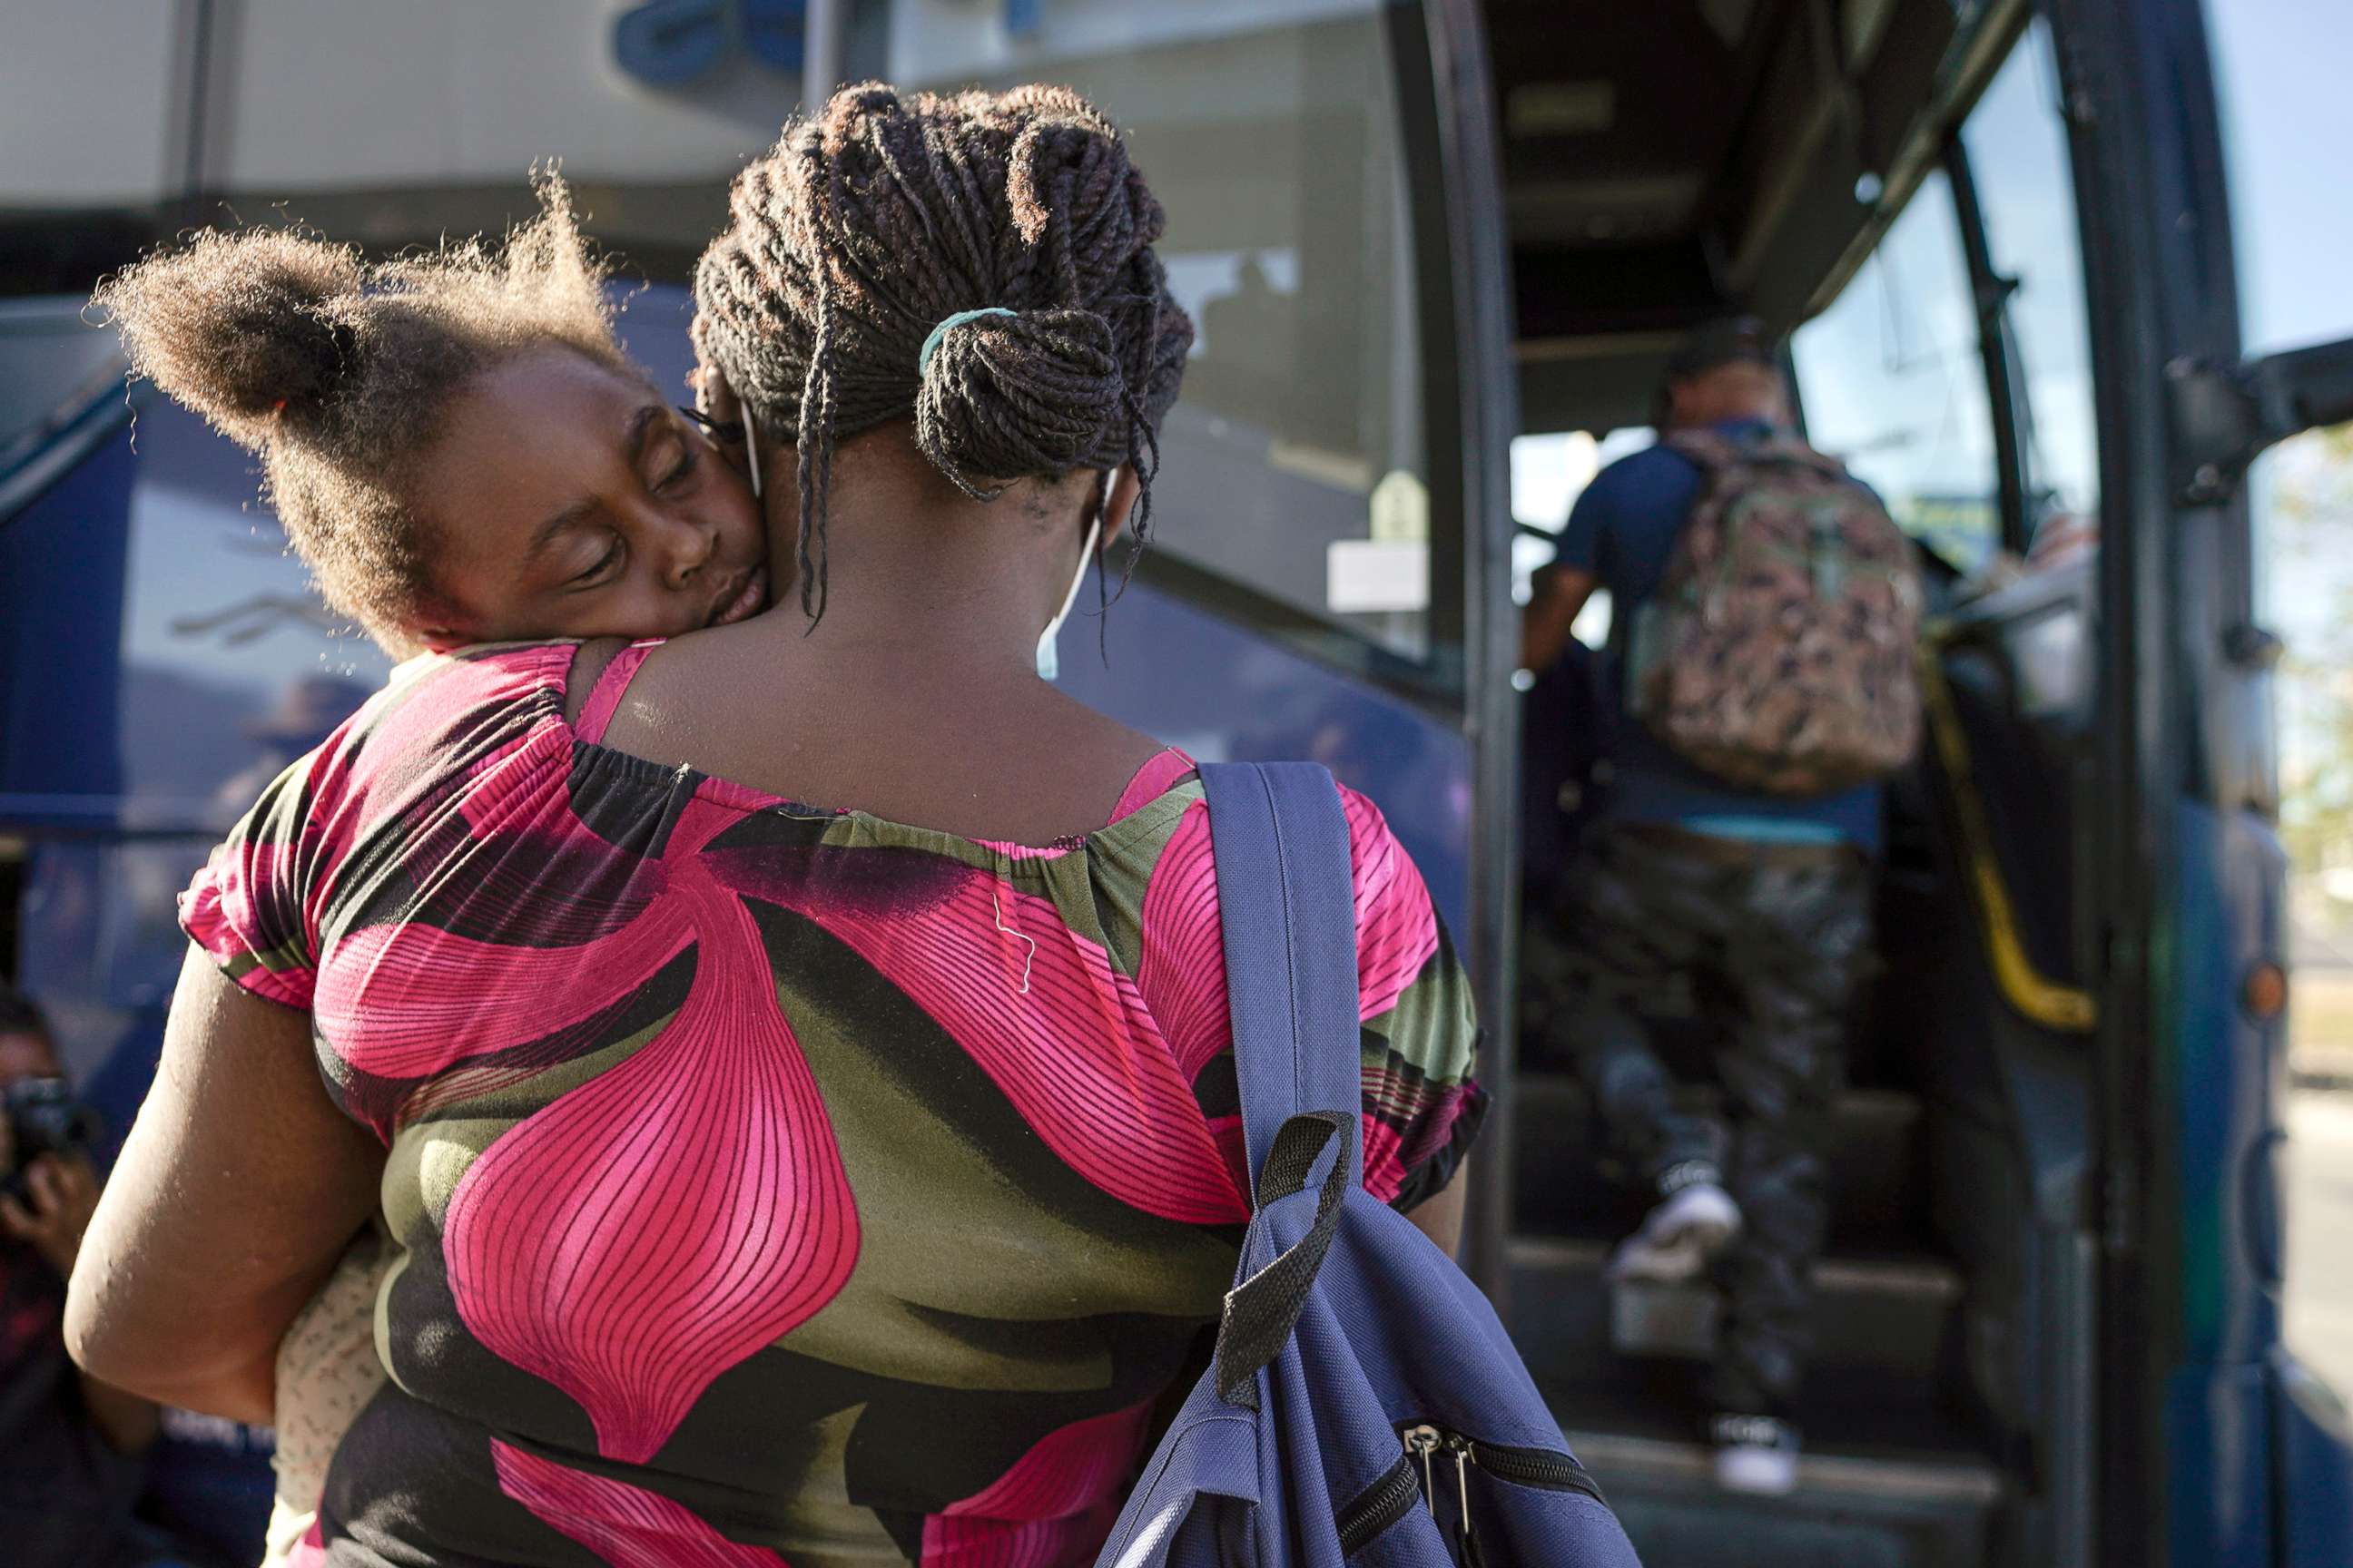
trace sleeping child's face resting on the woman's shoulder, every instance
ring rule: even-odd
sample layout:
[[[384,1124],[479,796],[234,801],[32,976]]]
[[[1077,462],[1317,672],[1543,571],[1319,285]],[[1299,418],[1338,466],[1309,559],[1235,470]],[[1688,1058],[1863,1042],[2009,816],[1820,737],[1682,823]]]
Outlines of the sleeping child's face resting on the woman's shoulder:
[[[767,607],[767,529],[718,447],[647,386],[565,348],[482,374],[419,463],[428,646],[671,637]]]

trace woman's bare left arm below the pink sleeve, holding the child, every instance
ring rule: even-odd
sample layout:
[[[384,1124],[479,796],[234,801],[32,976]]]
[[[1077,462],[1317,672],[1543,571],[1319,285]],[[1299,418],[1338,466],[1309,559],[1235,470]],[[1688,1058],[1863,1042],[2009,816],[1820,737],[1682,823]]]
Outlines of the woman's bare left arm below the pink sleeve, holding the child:
[[[268,1422],[278,1340],[374,1211],[381,1168],[318,1081],[308,1016],[191,950],[73,1267],[73,1359],[148,1399]]]

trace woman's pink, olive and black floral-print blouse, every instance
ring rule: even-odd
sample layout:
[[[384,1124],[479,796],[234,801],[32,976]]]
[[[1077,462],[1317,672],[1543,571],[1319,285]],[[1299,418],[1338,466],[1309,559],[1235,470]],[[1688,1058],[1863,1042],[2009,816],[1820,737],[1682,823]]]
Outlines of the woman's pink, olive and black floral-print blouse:
[[[579,722],[574,644],[405,668],[184,898],[388,1150],[391,1382],[308,1552],[1087,1563],[1249,1222],[1193,764],[1049,846],[819,811],[600,745],[649,646]],[[1346,816],[1362,1180],[1409,1208],[1475,1025]]]

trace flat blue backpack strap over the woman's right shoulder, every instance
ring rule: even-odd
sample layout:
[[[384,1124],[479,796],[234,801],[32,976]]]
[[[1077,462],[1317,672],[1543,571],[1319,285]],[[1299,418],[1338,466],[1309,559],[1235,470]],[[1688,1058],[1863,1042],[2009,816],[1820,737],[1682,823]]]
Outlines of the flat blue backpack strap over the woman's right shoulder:
[[[1362,1117],[1355,976],[1355,889],[1348,818],[1332,773],[1313,762],[1226,762],[1200,769],[1209,799],[1217,907],[1233,1013],[1242,1145],[1259,1204],[1282,1124],[1329,1112]],[[1362,1182],[1362,1138],[1346,1138]],[[1278,1187],[1297,1190],[1285,1173]]]

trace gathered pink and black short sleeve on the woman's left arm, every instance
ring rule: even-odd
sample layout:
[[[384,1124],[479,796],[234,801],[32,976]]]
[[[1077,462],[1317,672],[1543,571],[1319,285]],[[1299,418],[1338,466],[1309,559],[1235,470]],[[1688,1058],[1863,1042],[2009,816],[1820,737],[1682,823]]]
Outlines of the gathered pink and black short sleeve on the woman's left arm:
[[[181,931],[221,973],[294,1009],[311,1006],[318,978],[318,926],[304,900],[304,837],[318,816],[322,752],[271,780],[179,896]]]

